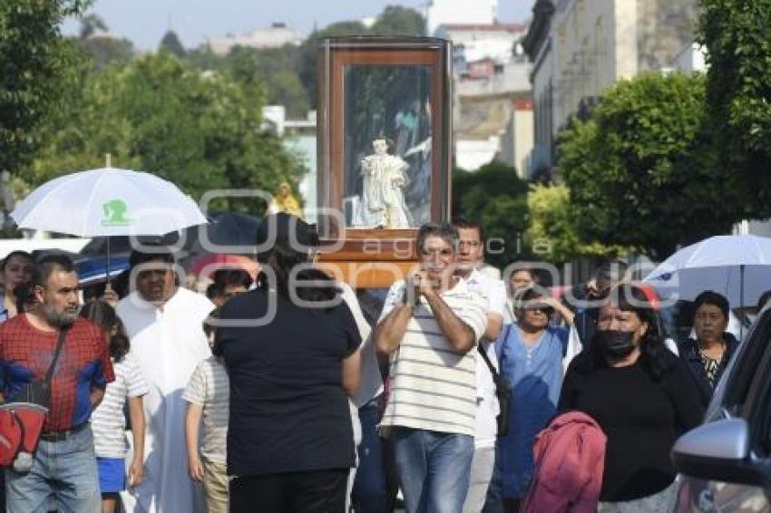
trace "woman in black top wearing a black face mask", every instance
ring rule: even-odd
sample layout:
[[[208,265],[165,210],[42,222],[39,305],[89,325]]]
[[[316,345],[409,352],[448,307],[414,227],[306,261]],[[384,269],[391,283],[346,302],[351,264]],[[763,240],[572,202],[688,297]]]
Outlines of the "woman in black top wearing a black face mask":
[[[598,331],[572,361],[560,411],[583,411],[608,437],[601,512],[669,511],[677,489],[669,451],[704,410],[688,370],[664,346],[638,286],[610,291]]]

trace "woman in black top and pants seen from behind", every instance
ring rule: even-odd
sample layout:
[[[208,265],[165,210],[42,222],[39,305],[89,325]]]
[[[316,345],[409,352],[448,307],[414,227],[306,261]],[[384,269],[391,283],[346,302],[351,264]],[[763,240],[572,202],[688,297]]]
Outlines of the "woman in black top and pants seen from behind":
[[[311,266],[315,231],[277,214],[258,245],[273,235],[257,290],[231,298],[217,323],[230,382],[229,510],[339,513],[354,465],[348,396],[361,337],[334,282]]]

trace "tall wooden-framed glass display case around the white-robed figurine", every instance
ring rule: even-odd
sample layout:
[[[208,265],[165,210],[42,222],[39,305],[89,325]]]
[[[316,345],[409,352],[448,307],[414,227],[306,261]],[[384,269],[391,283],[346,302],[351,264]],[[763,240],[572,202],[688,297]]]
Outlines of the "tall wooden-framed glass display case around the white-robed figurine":
[[[449,219],[450,54],[449,42],[434,38],[348,37],[321,43],[318,205],[339,210],[346,230],[366,229],[351,222],[354,213],[346,200],[356,198],[359,161],[371,152],[372,140],[380,137],[401,146],[395,149],[399,157],[425,159],[417,165],[411,162],[409,170],[414,187],[405,193],[407,207],[415,193],[420,196],[417,201],[423,200],[420,207],[411,208],[413,214],[415,209],[421,211],[410,227]],[[399,122],[412,132],[395,128]],[[420,173],[427,176],[415,176]],[[328,216],[321,215],[319,224],[323,237],[337,238],[345,231]],[[376,237],[389,237],[387,229],[370,231]]]

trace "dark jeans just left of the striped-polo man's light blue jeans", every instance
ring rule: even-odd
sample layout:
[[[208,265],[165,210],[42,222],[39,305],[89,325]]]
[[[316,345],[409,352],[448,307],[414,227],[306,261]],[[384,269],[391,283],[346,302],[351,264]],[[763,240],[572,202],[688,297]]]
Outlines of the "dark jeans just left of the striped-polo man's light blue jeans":
[[[377,434],[380,408],[376,401],[367,402],[358,410],[361,421],[361,443],[358,446],[358,468],[352,494],[353,505],[361,513],[393,511],[383,440]]]

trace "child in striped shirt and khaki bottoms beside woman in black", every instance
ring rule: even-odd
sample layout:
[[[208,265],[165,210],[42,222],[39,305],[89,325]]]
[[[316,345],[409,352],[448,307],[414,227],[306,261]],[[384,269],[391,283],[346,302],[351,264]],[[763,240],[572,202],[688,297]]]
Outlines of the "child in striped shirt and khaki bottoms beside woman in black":
[[[218,318],[214,310],[210,318]],[[185,441],[188,447],[190,478],[203,483],[209,513],[228,512],[228,471],[225,446],[228,440],[230,385],[228,373],[214,346],[214,326],[203,324],[213,355],[198,364],[190,376],[182,399],[188,402],[185,412]],[[203,418],[202,440],[198,443],[200,420]]]

